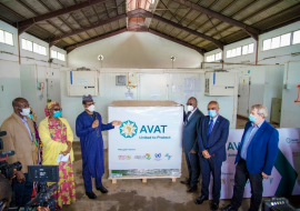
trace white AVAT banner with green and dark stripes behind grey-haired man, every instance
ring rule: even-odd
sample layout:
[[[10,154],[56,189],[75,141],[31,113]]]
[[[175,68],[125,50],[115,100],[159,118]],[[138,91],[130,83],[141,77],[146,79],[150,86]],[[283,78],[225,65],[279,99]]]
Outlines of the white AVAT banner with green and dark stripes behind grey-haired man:
[[[263,197],[300,194],[300,129],[288,128],[279,131],[279,153],[269,179],[263,180]],[[227,160],[222,164],[221,199],[231,199],[234,185],[234,160],[243,130],[230,130],[227,142]],[[212,180],[210,183],[210,199]],[[249,180],[244,198],[251,198]]]

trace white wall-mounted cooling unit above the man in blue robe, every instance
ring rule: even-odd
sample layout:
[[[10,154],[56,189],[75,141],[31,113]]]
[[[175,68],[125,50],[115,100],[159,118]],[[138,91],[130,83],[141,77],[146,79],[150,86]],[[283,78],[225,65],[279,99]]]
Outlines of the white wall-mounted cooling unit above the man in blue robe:
[[[68,96],[99,96],[98,71],[68,71]]]

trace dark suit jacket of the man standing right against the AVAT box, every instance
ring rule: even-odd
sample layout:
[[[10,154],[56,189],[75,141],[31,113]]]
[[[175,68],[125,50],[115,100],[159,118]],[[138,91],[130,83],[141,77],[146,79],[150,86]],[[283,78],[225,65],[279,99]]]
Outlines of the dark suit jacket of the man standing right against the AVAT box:
[[[187,115],[186,115],[187,117]],[[194,150],[198,152],[197,133],[200,119],[204,117],[203,113],[197,108],[192,113],[190,120],[183,125],[183,148],[186,151]]]

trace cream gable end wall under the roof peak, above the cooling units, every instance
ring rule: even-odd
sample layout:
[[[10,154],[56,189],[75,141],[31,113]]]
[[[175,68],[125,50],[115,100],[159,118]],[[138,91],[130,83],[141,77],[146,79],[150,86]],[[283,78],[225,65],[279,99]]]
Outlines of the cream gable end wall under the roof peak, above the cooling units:
[[[100,69],[97,57],[102,54],[103,68],[200,68],[202,56],[197,51],[148,32],[121,34],[74,49],[68,54],[68,67]]]

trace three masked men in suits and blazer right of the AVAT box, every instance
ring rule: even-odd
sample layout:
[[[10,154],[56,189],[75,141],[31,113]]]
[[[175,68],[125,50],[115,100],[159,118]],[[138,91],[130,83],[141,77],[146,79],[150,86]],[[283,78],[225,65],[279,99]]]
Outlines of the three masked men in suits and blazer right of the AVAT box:
[[[221,193],[221,167],[227,160],[226,143],[229,137],[229,121],[219,114],[217,101],[208,104],[208,115],[198,109],[196,98],[187,102],[188,113],[183,119],[183,149],[189,178],[181,183],[189,185],[187,192],[196,192],[200,174],[202,175],[201,195],[194,201],[201,204],[209,199],[210,178],[212,175],[211,210],[219,209]],[[258,211],[262,199],[262,180],[272,171],[277,154],[279,133],[266,121],[268,110],[263,104],[251,107],[241,144],[236,158],[234,187],[231,203],[222,211],[238,211],[243,199],[247,181],[250,181],[251,202],[249,211]]]

